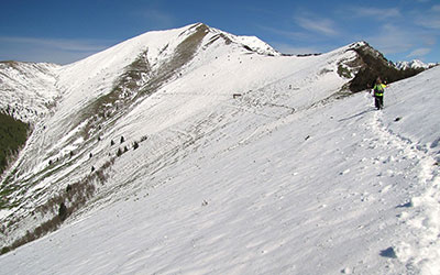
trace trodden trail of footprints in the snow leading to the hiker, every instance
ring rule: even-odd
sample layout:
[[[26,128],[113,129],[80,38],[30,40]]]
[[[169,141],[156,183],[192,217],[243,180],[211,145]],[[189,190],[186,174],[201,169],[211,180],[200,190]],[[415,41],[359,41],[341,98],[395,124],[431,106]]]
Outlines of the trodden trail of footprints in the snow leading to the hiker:
[[[372,116],[371,128],[377,134],[377,143],[397,150],[398,154],[391,155],[391,160],[411,160],[419,169],[413,183],[414,188],[405,190],[411,197],[408,202],[398,206],[405,208],[398,215],[399,223],[409,230],[399,230],[397,234],[400,241],[394,243],[393,251],[409,270],[419,270],[420,274],[427,275],[437,274],[440,270],[440,178],[436,158],[410,139],[386,128],[383,117],[387,114],[385,109]]]

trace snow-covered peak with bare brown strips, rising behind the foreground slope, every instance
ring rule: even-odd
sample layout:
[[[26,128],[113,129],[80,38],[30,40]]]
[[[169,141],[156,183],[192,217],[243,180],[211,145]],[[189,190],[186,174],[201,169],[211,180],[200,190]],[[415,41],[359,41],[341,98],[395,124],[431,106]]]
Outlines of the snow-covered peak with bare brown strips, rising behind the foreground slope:
[[[340,94],[356,69],[350,65],[356,58],[351,47],[282,56],[256,37],[197,23],[148,32],[66,66],[2,64],[3,110],[30,122],[33,131],[3,175],[2,218],[18,226],[0,240],[11,245],[40,226],[23,211],[29,204],[47,222],[58,219],[62,202],[73,215],[139,173],[160,169],[153,167],[198,139],[176,128],[193,128],[218,108],[235,106],[231,113],[268,108],[261,116],[271,121]],[[26,92],[31,100],[22,100]],[[211,119],[220,120],[217,116]],[[109,173],[123,153],[141,154],[136,160],[146,166],[127,167],[124,178],[113,179]],[[77,198],[69,194],[73,186],[90,191]]]

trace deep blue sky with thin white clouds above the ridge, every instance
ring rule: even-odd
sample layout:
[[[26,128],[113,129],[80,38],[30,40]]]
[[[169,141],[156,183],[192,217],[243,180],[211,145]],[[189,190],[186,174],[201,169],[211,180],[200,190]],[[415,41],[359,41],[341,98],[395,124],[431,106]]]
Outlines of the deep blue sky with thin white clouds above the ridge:
[[[283,53],[366,41],[394,62],[440,62],[440,1],[1,0],[0,61],[68,64],[152,30],[202,22]]]

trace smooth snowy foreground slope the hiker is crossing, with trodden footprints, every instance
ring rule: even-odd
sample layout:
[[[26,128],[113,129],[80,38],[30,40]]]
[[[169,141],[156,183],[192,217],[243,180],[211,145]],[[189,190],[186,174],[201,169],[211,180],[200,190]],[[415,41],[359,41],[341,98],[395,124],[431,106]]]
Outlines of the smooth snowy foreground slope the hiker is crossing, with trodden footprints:
[[[419,133],[438,121],[406,120],[439,114],[439,74],[393,85],[383,112],[358,94],[255,127],[270,109],[223,103],[185,162],[140,170],[112,204],[1,256],[2,272],[436,274],[439,147]],[[428,106],[411,89],[427,80]]]

